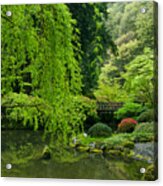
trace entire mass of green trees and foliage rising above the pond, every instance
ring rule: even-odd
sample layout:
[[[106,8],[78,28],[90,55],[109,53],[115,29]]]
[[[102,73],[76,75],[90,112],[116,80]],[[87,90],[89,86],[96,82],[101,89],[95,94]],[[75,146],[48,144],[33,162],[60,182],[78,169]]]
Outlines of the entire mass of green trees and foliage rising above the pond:
[[[97,102],[123,103],[108,125],[156,120],[154,12],[153,2],[2,6],[2,128],[44,129],[65,145],[103,120]]]

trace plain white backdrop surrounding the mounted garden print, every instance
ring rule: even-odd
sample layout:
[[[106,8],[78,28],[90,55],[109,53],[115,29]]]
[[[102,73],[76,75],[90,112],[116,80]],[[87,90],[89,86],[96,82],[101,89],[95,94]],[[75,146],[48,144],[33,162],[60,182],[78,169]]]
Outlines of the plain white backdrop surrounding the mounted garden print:
[[[61,3],[61,2],[113,2],[114,0],[0,0],[1,4],[47,4],[47,3]],[[118,0],[116,0],[118,1]],[[119,0],[130,1],[130,0]],[[114,1],[115,2],[115,1]],[[159,3],[159,180],[155,182],[142,182],[142,181],[100,181],[100,180],[65,180],[65,179],[29,179],[29,178],[0,178],[1,186],[29,186],[34,184],[35,186],[108,186],[108,185],[121,185],[121,186],[150,186],[161,185],[163,186],[163,148],[160,143],[163,142],[163,0],[157,0]],[[79,167],[80,168],[80,167]],[[41,170],[40,170],[41,171]]]

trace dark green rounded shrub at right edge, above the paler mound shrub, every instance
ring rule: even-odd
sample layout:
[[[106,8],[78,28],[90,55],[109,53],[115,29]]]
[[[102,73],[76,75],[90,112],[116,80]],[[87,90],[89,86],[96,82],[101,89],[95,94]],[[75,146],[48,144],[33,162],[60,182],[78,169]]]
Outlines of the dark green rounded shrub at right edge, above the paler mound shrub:
[[[151,122],[151,121],[154,121],[154,110],[153,109],[148,109],[148,110],[142,112],[138,116],[138,121],[139,122]]]

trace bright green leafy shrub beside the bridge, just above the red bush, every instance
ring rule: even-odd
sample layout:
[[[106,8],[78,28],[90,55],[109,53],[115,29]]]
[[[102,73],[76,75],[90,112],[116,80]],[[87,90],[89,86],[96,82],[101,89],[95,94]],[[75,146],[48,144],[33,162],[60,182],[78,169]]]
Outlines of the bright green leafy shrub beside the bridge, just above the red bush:
[[[143,108],[138,103],[125,103],[122,108],[115,112],[116,119],[123,119],[128,117],[138,116],[142,112]]]

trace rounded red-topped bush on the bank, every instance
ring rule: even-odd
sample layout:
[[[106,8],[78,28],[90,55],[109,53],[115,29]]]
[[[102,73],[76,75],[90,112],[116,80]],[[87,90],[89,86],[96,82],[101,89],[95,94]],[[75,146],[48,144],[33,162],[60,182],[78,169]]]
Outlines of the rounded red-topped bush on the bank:
[[[132,118],[125,118],[118,125],[118,132],[127,132],[127,133],[133,132],[136,124],[137,124],[136,120]]]

